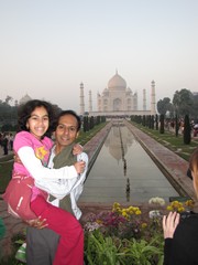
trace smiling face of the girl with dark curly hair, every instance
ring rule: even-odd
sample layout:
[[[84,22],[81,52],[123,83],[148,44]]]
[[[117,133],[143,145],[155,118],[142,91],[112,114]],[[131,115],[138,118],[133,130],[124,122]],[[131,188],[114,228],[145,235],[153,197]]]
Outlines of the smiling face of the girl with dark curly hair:
[[[26,121],[26,128],[37,139],[41,139],[47,131],[48,125],[48,113],[44,107],[36,107]]]

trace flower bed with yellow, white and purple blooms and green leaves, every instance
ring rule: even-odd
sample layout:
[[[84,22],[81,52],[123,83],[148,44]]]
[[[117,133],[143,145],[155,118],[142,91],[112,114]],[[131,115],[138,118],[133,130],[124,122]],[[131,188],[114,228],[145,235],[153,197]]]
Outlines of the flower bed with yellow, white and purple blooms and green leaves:
[[[163,265],[162,216],[167,211],[189,211],[191,201],[168,205],[152,198],[145,212],[138,206],[89,213],[85,220],[85,261],[90,265]]]

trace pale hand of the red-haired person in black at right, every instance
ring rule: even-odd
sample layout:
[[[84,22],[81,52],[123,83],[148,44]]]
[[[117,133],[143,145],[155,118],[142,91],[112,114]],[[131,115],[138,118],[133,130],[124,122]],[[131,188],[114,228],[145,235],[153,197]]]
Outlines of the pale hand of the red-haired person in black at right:
[[[163,216],[164,239],[173,239],[179,219],[180,215],[177,212],[169,212],[167,216]]]

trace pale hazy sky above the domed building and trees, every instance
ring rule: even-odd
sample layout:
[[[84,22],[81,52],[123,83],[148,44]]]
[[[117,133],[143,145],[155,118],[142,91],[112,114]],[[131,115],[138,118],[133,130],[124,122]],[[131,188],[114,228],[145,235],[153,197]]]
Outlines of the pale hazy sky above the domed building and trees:
[[[198,92],[198,0],[0,0],[0,99],[44,98],[79,113],[118,73],[147,102]],[[147,106],[150,109],[150,106]]]

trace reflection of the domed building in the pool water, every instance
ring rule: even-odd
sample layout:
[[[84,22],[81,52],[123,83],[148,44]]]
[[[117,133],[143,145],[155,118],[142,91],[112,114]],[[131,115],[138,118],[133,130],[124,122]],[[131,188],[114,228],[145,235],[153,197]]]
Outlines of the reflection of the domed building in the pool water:
[[[133,139],[131,138],[131,134],[129,130],[122,130],[120,127],[121,137],[122,137],[122,145],[123,145],[123,152],[127,155],[129,147],[131,147]],[[123,160],[123,153],[121,148],[121,139],[119,132],[119,126],[114,125],[109,136],[105,142],[105,146],[109,149],[109,153],[119,162]]]

